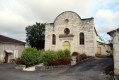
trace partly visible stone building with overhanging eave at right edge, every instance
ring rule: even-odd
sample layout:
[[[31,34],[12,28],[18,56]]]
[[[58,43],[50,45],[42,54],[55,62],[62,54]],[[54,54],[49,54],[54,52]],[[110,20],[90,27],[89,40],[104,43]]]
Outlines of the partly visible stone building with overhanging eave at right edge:
[[[119,75],[119,28],[108,32],[113,37],[114,73]]]

